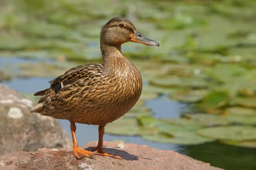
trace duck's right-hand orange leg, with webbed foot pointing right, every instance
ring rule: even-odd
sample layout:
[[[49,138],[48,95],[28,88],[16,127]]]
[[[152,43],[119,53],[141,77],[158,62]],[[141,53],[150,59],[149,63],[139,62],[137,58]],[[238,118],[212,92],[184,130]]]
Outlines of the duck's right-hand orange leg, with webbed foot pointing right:
[[[98,146],[95,147],[92,151],[95,151],[94,153],[96,155],[110,156],[112,158],[122,159],[122,157],[120,157],[120,156],[114,156],[114,155],[110,155],[110,154],[104,152],[104,150],[103,150],[103,135],[104,135],[104,131],[105,131],[104,127],[105,126],[99,125],[99,142],[98,142]]]

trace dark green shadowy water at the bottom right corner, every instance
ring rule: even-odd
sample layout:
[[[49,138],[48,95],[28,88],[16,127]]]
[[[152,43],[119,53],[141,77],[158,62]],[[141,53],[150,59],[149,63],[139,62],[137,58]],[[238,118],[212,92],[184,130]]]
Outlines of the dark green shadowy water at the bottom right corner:
[[[181,154],[225,170],[256,170],[256,149],[219,142],[182,146]]]

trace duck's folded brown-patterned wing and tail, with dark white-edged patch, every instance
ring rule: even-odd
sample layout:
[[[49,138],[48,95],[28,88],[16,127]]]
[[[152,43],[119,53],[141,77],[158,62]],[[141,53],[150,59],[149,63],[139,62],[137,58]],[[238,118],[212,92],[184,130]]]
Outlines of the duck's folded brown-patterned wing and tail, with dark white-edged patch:
[[[54,101],[52,101],[52,99],[55,99],[56,97],[65,99],[67,94],[79,89],[80,86],[86,85],[86,82],[96,81],[96,79],[100,79],[103,76],[103,64],[92,63],[71,68],[63,75],[49,81],[49,88],[34,94],[34,96],[42,97],[39,100],[38,105],[36,105],[30,112],[40,113],[50,110],[50,108],[54,108]]]

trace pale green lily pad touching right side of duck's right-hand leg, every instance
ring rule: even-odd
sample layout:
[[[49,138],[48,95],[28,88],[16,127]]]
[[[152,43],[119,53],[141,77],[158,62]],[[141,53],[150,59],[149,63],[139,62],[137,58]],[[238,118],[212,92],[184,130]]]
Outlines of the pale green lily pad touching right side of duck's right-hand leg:
[[[140,135],[140,127],[136,119],[120,118],[105,127],[105,133],[122,136]]]

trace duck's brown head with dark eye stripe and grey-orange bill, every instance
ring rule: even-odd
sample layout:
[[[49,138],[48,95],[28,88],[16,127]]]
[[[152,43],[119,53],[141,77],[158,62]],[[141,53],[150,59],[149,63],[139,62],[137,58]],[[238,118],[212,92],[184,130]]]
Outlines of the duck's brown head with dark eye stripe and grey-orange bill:
[[[102,27],[100,34],[101,45],[120,46],[125,42],[137,42],[144,45],[156,45],[159,43],[143,36],[130,20],[123,17],[115,17]]]

